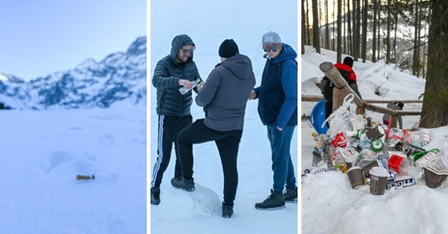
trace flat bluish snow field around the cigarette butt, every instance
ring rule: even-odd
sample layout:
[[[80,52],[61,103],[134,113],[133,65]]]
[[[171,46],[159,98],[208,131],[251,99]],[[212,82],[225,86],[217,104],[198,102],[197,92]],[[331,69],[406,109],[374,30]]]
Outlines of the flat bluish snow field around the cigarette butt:
[[[0,233],[146,233],[145,105],[0,119]]]

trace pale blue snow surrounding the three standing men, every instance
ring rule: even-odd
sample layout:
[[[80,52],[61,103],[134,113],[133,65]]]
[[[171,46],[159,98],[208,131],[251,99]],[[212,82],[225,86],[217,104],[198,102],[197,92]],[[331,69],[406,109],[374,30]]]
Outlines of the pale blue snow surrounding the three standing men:
[[[174,36],[188,34],[195,42],[194,61],[204,80],[219,62],[219,45],[226,38],[233,38],[239,52],[251,58],[257,80],[255,86],[258,86],[265,65],[261,38],[267,31],[276,31],[283,42],[297,51],[297,2],[151,1],[151,78],[157,62],[169,54]],[[155,88],[151,85],[148,90],[151,91],[150,171],[157,159],[158,115],[155,112]],[[170,184],[174,176],[173,152],[160,187],[161,203],[158,206],[148,203],[151,233],[297,233],[297,203],[287,203],[281,210],[256,210],[254,207],[255,203],[267,198],[273,183],[269,140],[258,117],[257,105],[258,101],[249,101],[246,108],[238,154],[239,184],[232,218],[221,217],[221,161],[215,143],[207,142],[193,147],[193,177],[197,190],[190,193],[174,189]],[[192,115],[194,121],[203,118],[204,112],[193,103]],[[297,131],[293,136],[291,155],[297,175]]]

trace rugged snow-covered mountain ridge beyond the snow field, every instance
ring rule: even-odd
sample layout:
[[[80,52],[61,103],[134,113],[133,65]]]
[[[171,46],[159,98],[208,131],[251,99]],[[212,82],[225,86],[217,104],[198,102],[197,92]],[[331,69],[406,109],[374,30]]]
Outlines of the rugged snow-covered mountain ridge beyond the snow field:
[[[85,59],[76,68],[45,78],[24,82],[13,75],[0,77],[0,104],[13,109],[107,108],[124,99],[146,103],[146,36],[137,38],[127,52],[99,62]]]

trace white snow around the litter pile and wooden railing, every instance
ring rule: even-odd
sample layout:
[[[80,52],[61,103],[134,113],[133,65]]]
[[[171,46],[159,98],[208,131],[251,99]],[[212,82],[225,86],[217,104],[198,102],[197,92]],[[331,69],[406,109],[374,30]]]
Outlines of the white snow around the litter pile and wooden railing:
[[[306,47],[302,55],[302,94],[321,95],[314,85],[323,73],[318,65],[323,61],[335,63],[336,53],[322,50],[321,54]],[[344,56],[343,56],[344,57]],[[424,92],[425,81],[399,71],[384,61],[376,64],[355,62],[360,94],[364,99],[417,100]],[[379,96],[374,90],[379,90]],[[315,103],[302,102],[302,114],[309,115]],[[385,107],[386,104],[375,104]],[[354,105],[351,111],[354,112]],[[404,110],[421,110],[421,103],[406,104]],[[367,111],[374,121],[382,115]],[[419,122],[419,117],[402,117],[405,129]],[[316,145],[309,122],[300,128],[301,170],[311,168],[311,152]],[[431,142],[425,149],[448,149],[448,126],[430,129]],[[386,190],[375,196],[367,186],[351,189],[349,178],[340,172],[317,173],[302,179],[302,233],[448,233],[448,182],[430,189],[417,181],[412,187]]]

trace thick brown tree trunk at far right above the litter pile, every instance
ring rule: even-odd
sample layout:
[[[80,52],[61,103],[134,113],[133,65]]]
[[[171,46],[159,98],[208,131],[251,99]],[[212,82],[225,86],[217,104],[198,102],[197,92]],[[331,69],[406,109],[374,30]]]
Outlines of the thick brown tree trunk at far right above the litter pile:
[[[448,1],[433,0],[420,127],[448,125]]]

